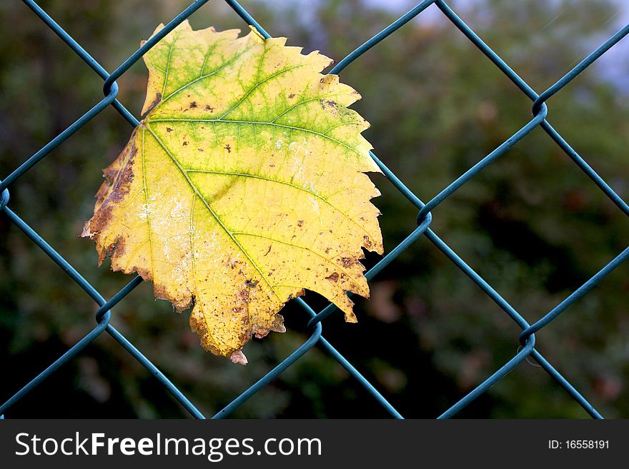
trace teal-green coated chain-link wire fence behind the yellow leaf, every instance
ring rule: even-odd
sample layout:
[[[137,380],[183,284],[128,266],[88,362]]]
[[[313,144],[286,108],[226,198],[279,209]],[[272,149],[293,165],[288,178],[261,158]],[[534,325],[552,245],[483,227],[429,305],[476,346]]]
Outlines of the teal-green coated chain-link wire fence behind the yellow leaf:
[[[67,138],[69,138],[73,133],[75,133],[79,128],[84,126],[88,121],[90,121],[94,116],[103,111],[107,106],[113,106],[119,114],[121,114],[132,126],[137,126],[139,122],[137,118],[135,118],[127,109],[124,108],[122,104],[117,101],[116,97],[118,94],[118,86],[116,84],[116,80],[122,76],[133,64],[135,64],[142,56],[151,49],[160,39],[166,36],[172,29],[174,29],[179,23],[187,19],[190,15],[197,11],[197,9],[201,8],[208,0],[197,0],[194,1],[187,9],[182,11],[177,17],[175,17],[172,21],[167,24],[164,29],[159,31],[152,39],[143,44],[132,56],[129,56],[127,60],[125,60],[116,70],[114,70],[111,74],[107,72],[95,59],[93,59],[82,47],[78,44],[74,39],[69,36],[69,34],[64,31],[58,24],[55,23],[54,19],[52,19],[46,11],[41,9],[41,7],[36,4],[33,0],[23,0],[24,4],[29,6],[29,8],[34,11],[34,13],[39,16],[41,21],[46,24],[50,29],[52,29],[60,38],[63,40],[76,54],[78,54],[81,59],[85,61],[85,63],[93,69],[96,74],[101,76],[104,80],[104,99],[102,99],[96,106],[90,109],[86,114],[81,116],[78,120],[71,124],[66,130],[61,132],[59,136],[56,136],[53,140],[46,144],[41,150],[34,153],[33,156],[28,158],[24,163],[19,166],[15,171],[6,176],[2,181],[0,181],[0,211],[3,211],[5,215],[9,218],[9,220],[14,223],[21,231],[26,234],[29,238],[31,238],[34,243],[36,243],[42,251],[44,251],[55,263],[57,263],[71,278],[75,281],[87,295],[89,295],[96,303],[99,305],[99,310],[96,312],[96,327],[91,330],[84,338],[82,338],[76,345],[69,349],[64,355],[61,355],[54,363],[51,363],[42,373],[36,376],[30,383],[24,385],[21,390],[19,390],[13,397],[6,401],[3,405],[0,406],[0,415],[3,415],[11,405],[16,403],[17,400],[24,397],[27,393],[29,393],[33,388],[35,388],[39,383],[46,380],[52,373],[55,373],[61,365],[64,365],[68,360],[79,355],[81,351],[92,341],[98,338],[102,333],[107,332],[110,336],[112,336],[120,346],[124,347],[132,354],[132,356],[142,363],[144,367],[146,367],[156,378],[159,380],[162,385],[164,385],[167,390],[176,398],[179,403],[181,403],[184,408],[186,408],[189,413],[191,413],[194,417],[204,418],[204,415],[199,412],[199,410],[194,406],[194,404],[184,395],[178,388],[177,385],[172,383],[159,369],[154,363],[151,362],[147,357],[145,357],[131,342],[129,342],[124,336],[117,331],[114,326],[110,323],[112,319],[112,308],[117,305],[120,301],[124,299],[125,296],[129,292],[131,292],[135,287],[142,282],[142,278],[137,276],[132,281],[130,281],[127,286],[122,288],[116,295],[106,301],[96,289],[91,286],[81,275],[74,269],[73,266],[68,263],[59,253],[56,253],[54,248],[51,248],[46,241],[41,238],[27,223],[21,220],[19,216],[9,208],[9,189],[8,187],[15,183],[16,180],[22,176],[26,171],[29,171],[36,163],[45,158],[54,148],[63,143]],[[242,6],[240,6],[235,0],[226,0],[227,4],[232,7],[234,12],[238,14],[247,24],[254,26],[257,31],[260,32],[265,37],[269,37],[267,31],[260,26],[257,21],[250,16],[247,11],[245,11]],[[629,257],[629,247],[625,248],[623,252],[618,254],[610,263],[603,268],[600,268],[600,271],[595,274],[590,280],[585,282],[583,286],[580,286],[576,291],[574,291],[568,298],[565,298],[564,301],[558,304],[553,310],[546,313],[543,317],[541,317],[538,321],[533,324],[529,324],[525,321],[520,313],[518,313],[515,308],[513,308],[504,298],[502,298],[493,288],[487,283],[483,278],[481,278],[470,266],[465,263],[465,261],[460,258],[460,256],[452,251],[450,247],[444,243],[432,229],[430,228],[430,224],[432,221],[432,211],[434,211],[437,206],[440,205],[445,199],[450,197],[452,193],[455,193],[457,189],[463,186],[467,181],[470,181],[477,173],[482,171],[485,167],[487,167],[490,163],[497,160],[501,156],[505,155],[507,151],[510,150],[513,146],[515,146],[522,138],[524,138],[530,131],[533,131],[534,128],[540,127],[548,133],[548,136],[552,138],[553,141],[566,153],[566,155],[571,158],[578,168],[583,171],[592,181],[600,188],[603,193],[605,193],[608,198],[610,198],[613,203],[615,203],[618,208],[620,208],[625,215],[629,216],[629,206],[625,201],[623,201],[617,193],[613,191],[612,188],[606,183],[603,178],[598,176],[598,174],[591,168],[586,161],[581,158],[578,153],[570,147],[567,141],[555,131],[555,129],[550,125],[547,120],[548,108],[546,106],[546,101],[550,99],[551,96],[558,93],[563,87],[570,83],[578,74],[583,72],[588,66],[593,64],[593,62],[598,59],[600,56],[605,54],[608,49],[610,49],[614,44],[616,44],[620,39],[623,39],[625,35],[629,33],[629,25],[625,26],[623,29],[620,29],[616,34],[614,34],[610,39],[605,41],[604,44],[598,47],[595,51],[592,52],[588,57],[583,59],[577,66],[575,66],[568,74],[562,76],[558,81],[550,86],[548,89],[543,91],[541,94],[537,94],[533,89],[523,81],[520,76],[518,76],[515,71],[510,69],[510,67],[503,61],[500,56],[495,54],[490,47],[485,44],[482,39],[480,39],[477,34],[475,34],[472,29],[470,29],[467,24],[465,24],[462,19],[457,16],[455,11],[453,11],[448,4],[443,0],[425,0],[420,4],[415,6],[412,10],[410,10],[407,14],[401,16],[397,21],[394,21],[392,24],[387,26],[387,28],[383,29],[380,33],[373,36],[371,39],[362,44],[358,49],[353,51],[351,54],[342,59],[332,70],[330,70],[331,74],[338,74],[340,71],[345,69],[345,67],[352,64],[353,61],[358,59],[362,54],[371,49],[373,46],[378,44],[383,39],[386,39],[387,36],[393,34],[397,29],[406,24],[411,19],[415,18],[415,16],[425,11],[425,9],[435,4],[437,8],[441,11],[441,13],[451,21],[451,23],[459,29],[462,34],[464,34],[469,41],[472,42],[482,54],[487,56],[489,59],[502,73],[505,75],[507,79],[513,82],[515,86],[517,86],[520,91],[522,91],[525,96],[533,103],[533,118],[520,130],[514,133],[510,138],[507,139],[500,146],[495,148],[494,151],[489,153],[487,156],[482,158],[478,163],[468,169],[465,173],[463,173],[459,178],[455,181],[452,181],[450,185],[443,188],[440,193],[437,194],[434,198],[432,198],[427,203],[423,203],[420,201],[417,196],[415,196],[412,191],[410,191],[403,183],[400,181],[394,173],[392,173],[387,166],[385,166],[380,159],[375,156],[375,154],[371,153],[372,158],[374,158],[375,162],[380,166],[382,171],[385,173],[389,181],[412,203],[417,207],[417,228],[415,231],[412,231],[407,238],[405,238],[402,243],[396,246],[390,253],[382,258],[382,260],[377,263],[376,266],[370,269],[366,273],[367,279],[371,280],[374,276],[377,275],[383,268],[385,268],[391,261],[393,261],[397,256],[405,251],[412,243],[417,241],[417,239],[422,236],[431,241],[435,246],[442,251],[442,253],[450,258],[452,263],[455,264],[460,270],[462,270],[472,282],[476,283],[482,291],[484,291],[487,296],[489,296],[495,303],[497,303],[500,308],[512,318],[515,323],[517,323],[520,328],[522,328],[522,333],[520,334],[520,350],[516,353],[516,355],[507,361],[502,367],[495,371],[490,377],[488,377],[485,381],[480,383],[474,390],[465,395],[461,400],[457,403],[454,403],[450,408],[445,410],[444,413],[440,415],[439,418],[450,418],[453,415],[456,415],[462,408],[464,408],[467,404],[469,404],[472,400],[477,398],[482,393],[485,393],[492,385],[497,383],[497,381],[505,378],[507,373],[509,373],[513,368],[515,368],[522,360],[527,358],[533,358],[533,360],[537,361],[539,365],[549,374],[551,375],[558,385],[562,386],[565,391],[576,400],[593,418],[602,418],[600,413],[598,413],[593,405],[591,405],[588,400],[581,395],[578,390],[576,390],[573,385],[571,385],[568,380],[563,378],[560,373],[558,373],[553,365],[551,365],[536,349],[535,349],[535,332],[539,331],[541,328],[548,326],[555,318],[557,318],[563,311],[565,311],[570,305],[572,305],[575,301],[578,301],[580,298],[588,294],[588,292],[596,286],[600,281],[605,278],[611,271],[613,271],[616,267],[623,263]],[[244,390],[240,395],[238,395],[234,400],[232,400],[229,405],[225,406],[222,410],[220,410],[213,418],[224,418],[230,413],[232,413],[239,405],[244,403],[245,400],[249,399],[252,395],[257,393],[260,389],[264,388],[270,381],[276,378],[280,373],[289,368],[293,363],[295,363],[299,358],[301,358],[310,348],[312,348],[315,344],[320,344],[332,357],[334,357],[354,378],[356,378],[360,384],[362,384],[375,398],[377,403],[382,405],[393,417],[402,418],[402,415],[395,409],[395,407],[387,402],[387,400],[378,392],[378,390],[367,380],[365,379],[360,372],[343,356],[339,353],[325,338],[322,336],[322,321],[330,316],[330,314],[334,313],[336,308],[332,304],[328,305],[319,313],[308,306],[308,304],[303,301],[301,298],[297,298],[294,301],[299,303],[302,308],[309,313],[312,317],[308,323],[308,328],[310,331],[310,336],[308,340],[295,351],[293,351],[287,358],[278,363],[275,368],[273,368],[267,375],[264,375],[263,378],[257,381],[254,385],[252,385],[249,389]]]

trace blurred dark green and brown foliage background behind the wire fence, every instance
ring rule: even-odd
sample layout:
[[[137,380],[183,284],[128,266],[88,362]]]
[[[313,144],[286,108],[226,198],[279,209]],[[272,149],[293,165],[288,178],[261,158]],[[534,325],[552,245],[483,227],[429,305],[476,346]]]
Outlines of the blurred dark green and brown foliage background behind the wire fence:
[[[186,4],[41,1],[109,71]],[[392,9],[359,0],[243,4],[274,36],[337,60],[396,18]],[[616,13],[608,1],[453,6],[538,92],[613,34],[609,20]],[[0,16],[10,25],[0,29],[1,176],[96,104],[102,81],[23,4],[2,2]],[[204,6],[191,23],[247,29],[222,2]],[[139,62],[118,81],[119,100],[136,114],[146,75]],[[366,136],[377,156],[424,201],[530,119],[530,101],[434,6],[345,69],[342,81],[363,96],[355,109],[372,124]],[[627,200],[626,89],[595,64],[548,106],[553,126]],[[130,277],[107,265],[97,268],[94,247],[78,235],[91,215],[101,168],[117,156],[130,130],[107,109],[10,188],[11,208],[106,298]],[[382,191],[375,203],[390,251],[415,227],[416,211],[384,177],[373,178]],[[627,217],[539,128],[433,216],[437,234],[530,322],[618,255],[629,238]],[[370,256],[366,263],[376,261]],[[628,293],[624,265],[537,334],[538,350],[609,417],[629,418]],[[4,401],[94,327],[96,306],[4,216],[0,298]],[[325,306],[312,293],[306,301]],[[407,417],[439,415],[517,351],[515,323],[425,238],[377,276],[371,300],[358,299],[356,310],[357,325],[335,315],[325,321],[324,335]],[[202,351],[187,313],[181,317],[168,303],[154,301],[148,284],[114,308],[112,323],[212,415],[305,340],[307,315],[294,304],[284,313],[288,332],[250,343],[246,367]],[[104,334],[6,416],[184,415],[152,375]],[[587,416],[529,363],[460,415]],[[234,416],[387,414],[334,359],[314,348]]]

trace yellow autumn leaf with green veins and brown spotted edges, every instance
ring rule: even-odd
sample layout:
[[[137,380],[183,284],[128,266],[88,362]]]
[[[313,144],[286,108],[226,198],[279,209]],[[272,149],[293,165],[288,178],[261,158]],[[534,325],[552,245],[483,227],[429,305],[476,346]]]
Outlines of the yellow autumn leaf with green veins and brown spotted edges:
[[[360,96],[320,74],[331,60],[317,51],[238,34],[184,21],[147,52],[144,119],[82,236],[99,263],[194,305],[204,348],[247,363],[242,346],[283,332],[278,312],[304,288],[355,322],[346,291],[369,296],[359,259],[382,235],[369,124],[347,109]]]

